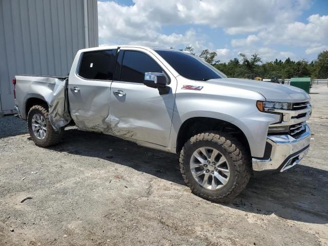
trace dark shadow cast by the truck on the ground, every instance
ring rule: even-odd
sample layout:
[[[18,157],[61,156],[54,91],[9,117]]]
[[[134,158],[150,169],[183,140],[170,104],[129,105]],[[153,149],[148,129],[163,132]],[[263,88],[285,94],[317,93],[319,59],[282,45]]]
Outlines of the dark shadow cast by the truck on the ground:
[[[51,149],[103,158],[185,186],[176,155],[140,147],[113,136],[69,129],[65,131],[63,143]],[[328,223],[327,174],[325,170],[299,165],[278,175],[252,178],[239,196],[230,203],[221,204],[248,213]]]

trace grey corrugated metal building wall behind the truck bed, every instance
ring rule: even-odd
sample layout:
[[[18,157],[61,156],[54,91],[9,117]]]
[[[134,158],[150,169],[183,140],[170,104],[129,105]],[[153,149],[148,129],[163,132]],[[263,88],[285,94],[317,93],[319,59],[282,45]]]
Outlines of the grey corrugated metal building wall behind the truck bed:
[[[14,75],[67,75],[96,46],[97,0],[0,0],[0,114],[13,112]]]

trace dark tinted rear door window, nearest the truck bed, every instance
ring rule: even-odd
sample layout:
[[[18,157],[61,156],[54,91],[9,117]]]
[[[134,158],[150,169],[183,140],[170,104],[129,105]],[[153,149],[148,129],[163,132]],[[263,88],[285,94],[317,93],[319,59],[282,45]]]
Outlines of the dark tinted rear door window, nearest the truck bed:
[[[87,79],[112,80],[116,50],[85,52],[78,75]]]

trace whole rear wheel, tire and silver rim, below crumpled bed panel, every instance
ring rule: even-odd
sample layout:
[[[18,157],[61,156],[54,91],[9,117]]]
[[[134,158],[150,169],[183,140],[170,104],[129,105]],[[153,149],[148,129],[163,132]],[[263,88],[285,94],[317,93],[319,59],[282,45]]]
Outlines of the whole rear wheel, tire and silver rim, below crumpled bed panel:
[[[40,147],[58,144],[63,135],[62,129],[55,131],[51,126],[45,105],[35,105],[30,109],[27,124],[34,144]]]

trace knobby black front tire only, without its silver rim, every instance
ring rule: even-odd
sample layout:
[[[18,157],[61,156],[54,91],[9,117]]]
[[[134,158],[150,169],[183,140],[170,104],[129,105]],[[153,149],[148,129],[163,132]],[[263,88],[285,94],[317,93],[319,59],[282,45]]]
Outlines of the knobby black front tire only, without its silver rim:
[[[230,178],[223,187],[209,190],[201,186],[192,175],[190,161],[194,151],[210,147],[222,153],[229,164]],[[237,196],[248,184],[251,177],[251,159],[248,151],[229,134],[206,132],[190,138],[180,153],[180,171],[192,192],[215,202],[228,202]]]

